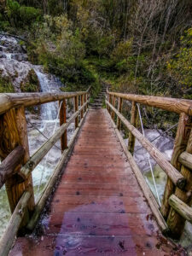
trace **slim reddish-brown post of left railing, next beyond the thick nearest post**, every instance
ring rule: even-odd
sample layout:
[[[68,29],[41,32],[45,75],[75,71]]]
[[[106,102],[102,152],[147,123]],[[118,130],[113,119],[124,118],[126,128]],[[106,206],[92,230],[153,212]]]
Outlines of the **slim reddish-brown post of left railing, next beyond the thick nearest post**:
[[[60,102],[60,125],[67,123],[67,106],[66,99]],[[61,152],[63,152],[67,148],[67,131],[61,136]]]

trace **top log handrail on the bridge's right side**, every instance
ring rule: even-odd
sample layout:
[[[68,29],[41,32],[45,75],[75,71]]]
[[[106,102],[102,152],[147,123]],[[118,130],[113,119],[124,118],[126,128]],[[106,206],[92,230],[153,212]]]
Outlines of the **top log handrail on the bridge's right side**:
[[[134,94],[124,94],[118,92],[107,91],[108,95],[117,96],[127,101],[142,103],[150,107],[161,108],[166,111],[175,113],[187,113],[192,115],[192,101],[180,100],[176,98],[160,97],[160,96],[143,96]]]

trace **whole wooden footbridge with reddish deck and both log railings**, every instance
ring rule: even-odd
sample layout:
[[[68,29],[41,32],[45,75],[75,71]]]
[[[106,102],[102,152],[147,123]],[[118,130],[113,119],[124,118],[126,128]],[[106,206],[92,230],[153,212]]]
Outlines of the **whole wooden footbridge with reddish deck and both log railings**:
[[[0,255],[187,255],[165,236],[179,238],[185,221],[192,223],[192,101],[108,91],[107,108],[89,109],[89,95],[90,89],[0,95],[0,186],[12,212]],[[30,156],[25,108],[56,101],[61,126]],[[130,121],[123,102],[131,102]],[[137,130],[137,103],[180,114],[171,162]],[[136,138],[167,174],[161,207],[132,156]],[[60,139],[61,159],[34,201],[32,171]],[[24,236],[35,227],[36,236]]]

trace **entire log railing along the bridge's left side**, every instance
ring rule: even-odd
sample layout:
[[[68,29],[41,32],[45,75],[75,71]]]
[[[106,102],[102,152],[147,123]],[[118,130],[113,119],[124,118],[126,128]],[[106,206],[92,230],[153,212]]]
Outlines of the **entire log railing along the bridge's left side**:
[[[67,120],[67,99],[74,99],[74,113]],[[5,183],[12,216],[0,241],[0,255],[8,255],[18,230],[32,230],[47,201],[55,181],[70,154],[84,122],[90,88],[71,93],[0,94],[0,188]],[[25,108],[47,102],[60,103],[60,128],[29,155]],[[80,103],[80,104],[79,104]],[[72,139],[67,143],[67,127],[75,122]],[[49,177],[38,201],[34,201],[32,171],[55,143],[61,139],[61,159]]]

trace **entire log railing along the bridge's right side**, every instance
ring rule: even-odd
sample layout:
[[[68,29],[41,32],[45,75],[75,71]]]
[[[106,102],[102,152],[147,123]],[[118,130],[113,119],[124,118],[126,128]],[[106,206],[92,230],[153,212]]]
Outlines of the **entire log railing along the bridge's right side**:
[[[130,122],[122,115],[123,100],[131,102]],[[155,148],[154,145],[137,130],[137,103],[180,114],[171,163],[166,160],[164,154]],[[111,119],[113,120],[119,141],[143,189],[148,204],[160,224],[161,230],[169,236],[179,238],[183,233],[185,220],[187,219],[189,222],[192,222],[192,208],[189,206],[192,200],[192,101],[108,91],[106,105]],[[116,125],[114,124],[115,114],[117,117]],[[129,131],[128,145],[125,145],[119,133],[121,123],[123,123]],[[161,207],[157,204],[154,195],[148,188],[148,184],[133,159],[132,154],[134,153],[136,139],[141,143],[143,148],[148,151],[148,154],[151,155],[162,170],[166,172],[167,181]]]

